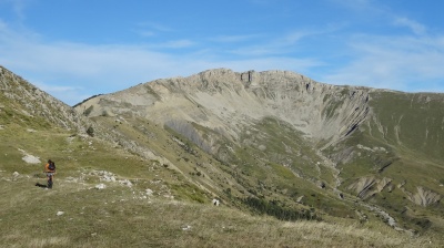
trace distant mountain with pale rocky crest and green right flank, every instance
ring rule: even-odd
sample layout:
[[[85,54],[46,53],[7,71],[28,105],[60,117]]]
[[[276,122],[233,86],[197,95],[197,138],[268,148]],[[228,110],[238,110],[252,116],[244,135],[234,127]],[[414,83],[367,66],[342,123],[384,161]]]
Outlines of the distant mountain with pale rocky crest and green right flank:
[[[435,144],[444,136],[443,130],[438,128],[441,120],[444,120],[441,111],[444,108],[443,94],[330,85],[285,71],[239,73],[218,69],[188,78],[139,84],[125,91],[100,95],[77,106],[77,111],[83,114],[88,108],[90,112],[87,115],[92,118],[139,117],[167,125],[229,164],[239,163],[238,158],[231,156],[241,155],[234,154],[232,148],[226,149],[226,145],[222,144],[225,142],[219,142],[221,137],[228,138],[234,146],[253,145],[262,153],[266,152],[268,145],[256,144],[258,141],[246,142],[250,140],[248,136],[255,130],[252,126],[261,123],[261,120],[275,118],[282,124],[289,124],[294,135],[300,135],[300,144],[307,142],[305,145],[313,147],[309,156],[291,152],[296,152],[302,158],[305,156],[301,161],[305,159],[305,165],[295,162],[293,155],[279,155],[287,157],[285,159],[290,162],[289,166],[295,175],[317,185],[326,184],[334,190],[350,194],[356,190],[356,197],[362,199],[383,202],[387,196],[382,199],[375,199],[379,197],[374,196],[385,195],[387,185],[402,185],[406,180],[405,176],[398,176],[392,170],[406,166],[408,170],[417,172],[418,176],[411,180],[408,175],[408,183],[397,187],[397,190],[391,189],[391,195],[407,198],[420,206],[424,203],[441,206],[442,188],[438,183],[426,178],[430,174],[418,158],[437,163],[433,165],[437,169],[435,173],[442,172],[443,166],[438,161],[444,151]],[[424,117],[418,117],[422,115]],[[393,121],[395,116],[396,122]],[[424,128],[418,126],[420,123],[426,130],[424,133],[416,132]],[[414,132],[406,132],[408,128]],[[432,128],[434,132],[428,131]],[[423,147],[417,147],[418,142],[424,144]],[[413,158],[412,154],[418,156]],[[426,154],[432,156],[426,158]],[[324,161],[325,165],[322,162],[319,166],[333,170],[316,176],[310,168],[310,164],[316,164],[315,161]],[[274,162],[284,163],[283,159]],[[365,180],[369,177],[380,183],[364,184],[365,187],[353,186],[361,184],[353,180]],[[395,205],[394,208],[402,208],[402,205]]]

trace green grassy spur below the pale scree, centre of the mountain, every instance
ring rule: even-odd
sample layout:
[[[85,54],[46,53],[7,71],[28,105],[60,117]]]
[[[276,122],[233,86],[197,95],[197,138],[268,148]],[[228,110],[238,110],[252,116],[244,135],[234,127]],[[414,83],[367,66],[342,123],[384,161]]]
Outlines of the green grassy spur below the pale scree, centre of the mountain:
[[[321,158],[294,132],[284,122],[265,118],[245,132],[242,147],[231,163],[240,165],[236,169],[246,175],[244,180],[250,182],[256,196],[278,199],[294,208],[301,207],[295,202],[303,197],[302,208],[314,207],[342,217],[354,215],[337,196],[321,189],[320,182],[333,185],[332,172],[316,165]]]

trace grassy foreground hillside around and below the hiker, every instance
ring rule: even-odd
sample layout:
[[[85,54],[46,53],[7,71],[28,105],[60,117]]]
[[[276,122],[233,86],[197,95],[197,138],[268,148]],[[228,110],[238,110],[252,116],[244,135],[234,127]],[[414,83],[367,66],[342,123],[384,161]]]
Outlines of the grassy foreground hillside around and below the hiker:
[[[32,123],[32,122],[30,122]],[[29,124],[30,124],[29,123]],[[6,124],[0,131],[0,244],[8,247],[418,247],[433,237],[410,238],[377,224],[279,221],[233,208],[167,199],[181,176],[95,138],[58,128]],[[159,137],[161,138],[161,137]],[[158,141],[159,142],[159,141]],[[57,162],[54,189],[44,190],[43,162],[31,165],[21,148]],[[119,183],[94,186],[94,170],[108,170]],[[14,177],[13,172],[20,175]],[[158,183],[161,182],[161,183]],[[179,185],[179,183],[176,183]],[[145,189],[154,190],[147,196]],[[186,198],[185,199],[190,199]],[[63,211],[57,216],[58,211]],[[370,225],[370,226],[369,226]],[[370,228],[370,229],[367,229]],[[384,231],[382,231],[384,230]],[[382,231],[382,232],[381,232]]]

